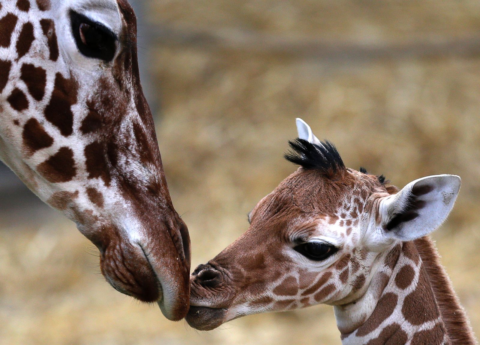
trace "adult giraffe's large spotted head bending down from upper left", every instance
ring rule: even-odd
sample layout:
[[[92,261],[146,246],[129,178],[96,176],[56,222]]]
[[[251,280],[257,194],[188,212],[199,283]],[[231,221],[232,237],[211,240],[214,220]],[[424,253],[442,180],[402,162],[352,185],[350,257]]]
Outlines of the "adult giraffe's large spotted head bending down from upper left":
[[[0,158],[100,251],[117,290],[178,320],[190,239],[172,206],[126,0],[0,2]]]

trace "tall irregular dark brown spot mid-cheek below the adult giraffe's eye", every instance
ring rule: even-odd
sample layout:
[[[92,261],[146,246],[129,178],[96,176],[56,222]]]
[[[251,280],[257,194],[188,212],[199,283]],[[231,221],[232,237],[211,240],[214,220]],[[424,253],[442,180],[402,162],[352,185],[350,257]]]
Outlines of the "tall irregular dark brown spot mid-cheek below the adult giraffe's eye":
[[[73,132],[71,106],[75,103],[77,103],[75,82],[57,73],[50,103],[45,108],[45,118],[58,127],[64,137],[72,135]]]

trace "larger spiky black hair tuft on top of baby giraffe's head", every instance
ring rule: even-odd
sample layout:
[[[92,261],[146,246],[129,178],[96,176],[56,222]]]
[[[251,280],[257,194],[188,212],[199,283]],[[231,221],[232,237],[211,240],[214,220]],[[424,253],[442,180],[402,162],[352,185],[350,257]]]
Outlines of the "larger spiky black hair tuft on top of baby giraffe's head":
[[[285,154],[285,159],[304,169],[318,169],[329,177],[342,174],[346,170],[338,150],[328,140],[318,145],[297,138],[288,141],[288,144],[292,150]]]

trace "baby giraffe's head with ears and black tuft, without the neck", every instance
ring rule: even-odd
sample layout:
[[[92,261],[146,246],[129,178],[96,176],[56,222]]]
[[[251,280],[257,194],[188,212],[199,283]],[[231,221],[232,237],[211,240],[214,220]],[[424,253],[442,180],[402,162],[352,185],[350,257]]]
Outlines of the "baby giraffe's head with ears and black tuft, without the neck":
[[[300,168],[253,208],[237,241],[193,272],[192,327],[355,302],[385,285],[375,272],[398,243],[435,230],[452,209],[458,176],[424,177],[398,191],[383,176],[346,168],[302,120],[297,127],[286,158]]]

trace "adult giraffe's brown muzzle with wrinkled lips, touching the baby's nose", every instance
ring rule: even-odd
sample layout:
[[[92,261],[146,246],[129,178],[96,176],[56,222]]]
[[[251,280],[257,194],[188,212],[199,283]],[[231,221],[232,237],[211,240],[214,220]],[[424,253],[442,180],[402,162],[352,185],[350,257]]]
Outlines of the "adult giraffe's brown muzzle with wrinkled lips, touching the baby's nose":
[[[185,317],[190,296],[190,237],[185,223],[176,218],[150,228],[148,236],[110,227],[103,229],[102,239],[92,240],[108,283],[121,293],[157,303],[172,321]]]

